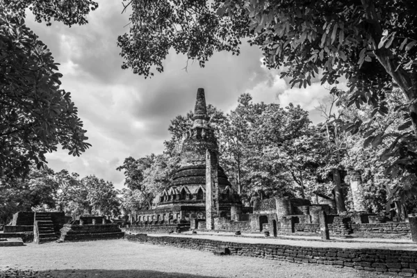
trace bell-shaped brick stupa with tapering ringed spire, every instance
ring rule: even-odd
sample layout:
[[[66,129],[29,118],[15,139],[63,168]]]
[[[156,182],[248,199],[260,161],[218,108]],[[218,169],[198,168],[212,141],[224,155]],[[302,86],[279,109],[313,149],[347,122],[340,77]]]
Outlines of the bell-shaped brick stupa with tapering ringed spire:
[[[203,89],[197,91],[193,120],[193,127],[183,135],[181,167],[170,187],[158,197],[156,208],[136,213],[130,230],[181,231],[196,222],[204,229],[215,229],[215,219],[241,206],[218,163],[218,143],[208,123]]]

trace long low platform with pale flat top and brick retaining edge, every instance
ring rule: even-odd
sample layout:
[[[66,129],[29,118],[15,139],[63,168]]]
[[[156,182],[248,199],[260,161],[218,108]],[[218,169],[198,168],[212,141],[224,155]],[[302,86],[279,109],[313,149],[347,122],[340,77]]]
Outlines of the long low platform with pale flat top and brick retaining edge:
[[[306,238],[261,238],[253,234],[126,234],[126,240],[215,252],[227,248],[231,255],[262,259],[334,265],[381,272],[399,277],[417,277],[417,245],[411,240],[370,238],[320,240]]]

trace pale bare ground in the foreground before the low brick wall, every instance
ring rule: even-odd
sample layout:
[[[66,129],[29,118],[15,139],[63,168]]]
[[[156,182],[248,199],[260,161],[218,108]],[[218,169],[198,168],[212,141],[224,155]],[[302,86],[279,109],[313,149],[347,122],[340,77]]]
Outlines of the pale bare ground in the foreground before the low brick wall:
[[[6,277],[389,277],[328,265],[271,261],[177,247],[98,240],[0,247],[0,278]]]

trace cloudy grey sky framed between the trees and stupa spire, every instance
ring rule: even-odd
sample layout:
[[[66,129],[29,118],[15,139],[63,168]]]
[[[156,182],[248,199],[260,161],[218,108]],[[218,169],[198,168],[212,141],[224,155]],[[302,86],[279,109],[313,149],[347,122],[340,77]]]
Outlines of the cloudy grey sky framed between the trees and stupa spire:
[[[53,170],[67,169],[81,177],[95,174],[122,188],[124,175],[115,169],[129,156],[163,152],[170,120],[194,108],[198,88],[204,88],[207,104],[225,113],[248,92],[254,102],[300,104],[314,123],[322,121],[314,107],[327,100],[329,91],[318,79],[306,89],[291,89],[288,80],[279,79],[280,70],[266,69],[261,51],[245,42],[239,56],[216,53],[204,68],[188,63],[184,70],[186,57],[171,51],[165,71],[152,79],[122,70],[117,36],[129,32],[129,15],[122,14],[122,1],[98,2],[99,8],[83,26],[69,28],[59,22],[46,26],[35,22],[30,12],[26,16],[26,25],[60,63],[61,88],[71,92],[92,145],[79,157],[62,149],[47,154]]]

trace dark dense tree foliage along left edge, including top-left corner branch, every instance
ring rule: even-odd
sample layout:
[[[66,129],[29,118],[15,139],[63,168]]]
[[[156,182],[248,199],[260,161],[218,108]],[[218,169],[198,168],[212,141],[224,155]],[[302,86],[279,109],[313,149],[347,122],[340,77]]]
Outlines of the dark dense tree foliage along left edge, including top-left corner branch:
[[[79,156],[85,142],[83,123],[70,92],[60,89],[57,63],[47,46],[24,24],[29,8],[38,22],[85,24],[97,3],[86,1],[2,1],[0,4],[0,177],[24,177],[33,163],[57,145]]]

